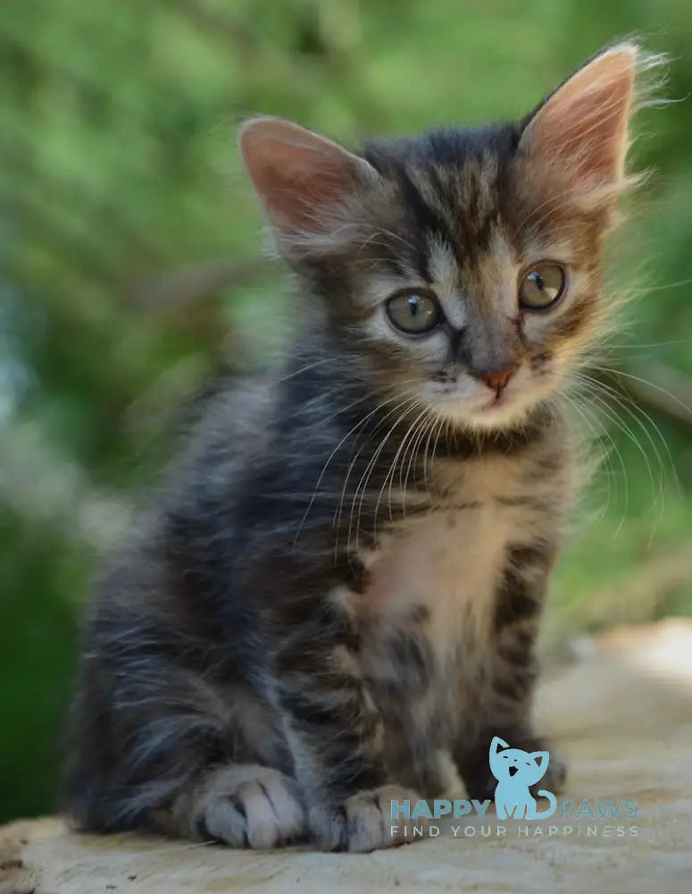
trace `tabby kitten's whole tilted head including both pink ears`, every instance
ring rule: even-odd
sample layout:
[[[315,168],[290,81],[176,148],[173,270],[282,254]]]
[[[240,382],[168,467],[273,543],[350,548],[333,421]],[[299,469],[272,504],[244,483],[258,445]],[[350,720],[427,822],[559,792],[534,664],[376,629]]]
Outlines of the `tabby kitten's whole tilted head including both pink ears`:
[[[606,49],[521,122],[353,154],[240,131],[276,244],[373,386],[470,429],[521,421],[602,329],[638,48]]]

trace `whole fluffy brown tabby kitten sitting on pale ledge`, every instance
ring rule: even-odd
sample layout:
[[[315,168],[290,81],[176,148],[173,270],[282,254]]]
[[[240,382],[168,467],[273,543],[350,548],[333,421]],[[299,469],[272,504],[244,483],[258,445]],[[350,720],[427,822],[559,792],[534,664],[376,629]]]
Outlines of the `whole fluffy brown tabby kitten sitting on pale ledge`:
[[[385,848],[391,798],[457,772],[492,797],[494,736],[545,747],[534,644],[575,477],[560,392],[609,310],[641,60],[621,43],[520,122],[358,153],[243,125],[301,325],[280,375],[213,398],[97,588],[82,828]]]

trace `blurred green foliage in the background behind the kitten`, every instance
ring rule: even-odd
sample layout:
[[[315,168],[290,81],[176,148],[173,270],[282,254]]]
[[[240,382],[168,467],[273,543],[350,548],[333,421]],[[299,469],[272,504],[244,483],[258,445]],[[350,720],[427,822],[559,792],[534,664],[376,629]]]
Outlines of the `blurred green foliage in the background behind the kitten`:
[[[681,100],[641,115],[635,160],[657,173],[613,268],[641,296],[612,363],[657,384],[626,375],[634,404],[600,412],[614,447],[555,587],[563,634],[690,606],[688,3],[0,4],[0,821],[54,808],[79,603],[173,408],[223,363],[262,366],[290,316],[235,122],[283,114],[349,142],[516,116],[631,33],[671,55]],[[676,573],[627,604],[652,557]]]

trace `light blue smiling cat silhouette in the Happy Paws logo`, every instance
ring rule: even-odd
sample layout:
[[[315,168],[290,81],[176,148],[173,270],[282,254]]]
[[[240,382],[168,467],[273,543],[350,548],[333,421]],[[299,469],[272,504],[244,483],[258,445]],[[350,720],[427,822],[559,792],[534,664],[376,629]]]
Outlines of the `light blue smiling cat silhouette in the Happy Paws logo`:
[[[536,809],[536,798],[530,792],[530,787],[546,774],[549,760],[547,751],[521,751],[521,748],[510,748],[499,736],[493,738],[490,743],[490,770],[497,780],[495,809],[498,820],[506,820],[510,816],[515,820],[545,820],[554,814],[557,799],[552,791],[538,789],[538,795],[550,802],[546,810]]]

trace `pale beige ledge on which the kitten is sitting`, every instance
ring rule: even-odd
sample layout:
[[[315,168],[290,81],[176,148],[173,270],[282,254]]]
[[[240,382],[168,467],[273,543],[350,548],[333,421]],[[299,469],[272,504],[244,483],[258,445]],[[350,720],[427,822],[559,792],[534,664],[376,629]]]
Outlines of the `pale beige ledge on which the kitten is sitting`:
[[[541,727],[570,763],[564,797],[576,804],[636,798],[635,820],[554,816],[507,822],[503,836],[485,837],[481,826],[497,826],[488,815],[463,822],[457,838],[450,823],[439,823],[437,838],[351,856],[76,835],[51,817],[0,830],[0,894],[689,894],[692,623],[618,628],[582,641],[577,654],[550,674],[537,704]],[[550,825],[558,832],[550,834]],[[621,836],[604,831],[618,825]]]

